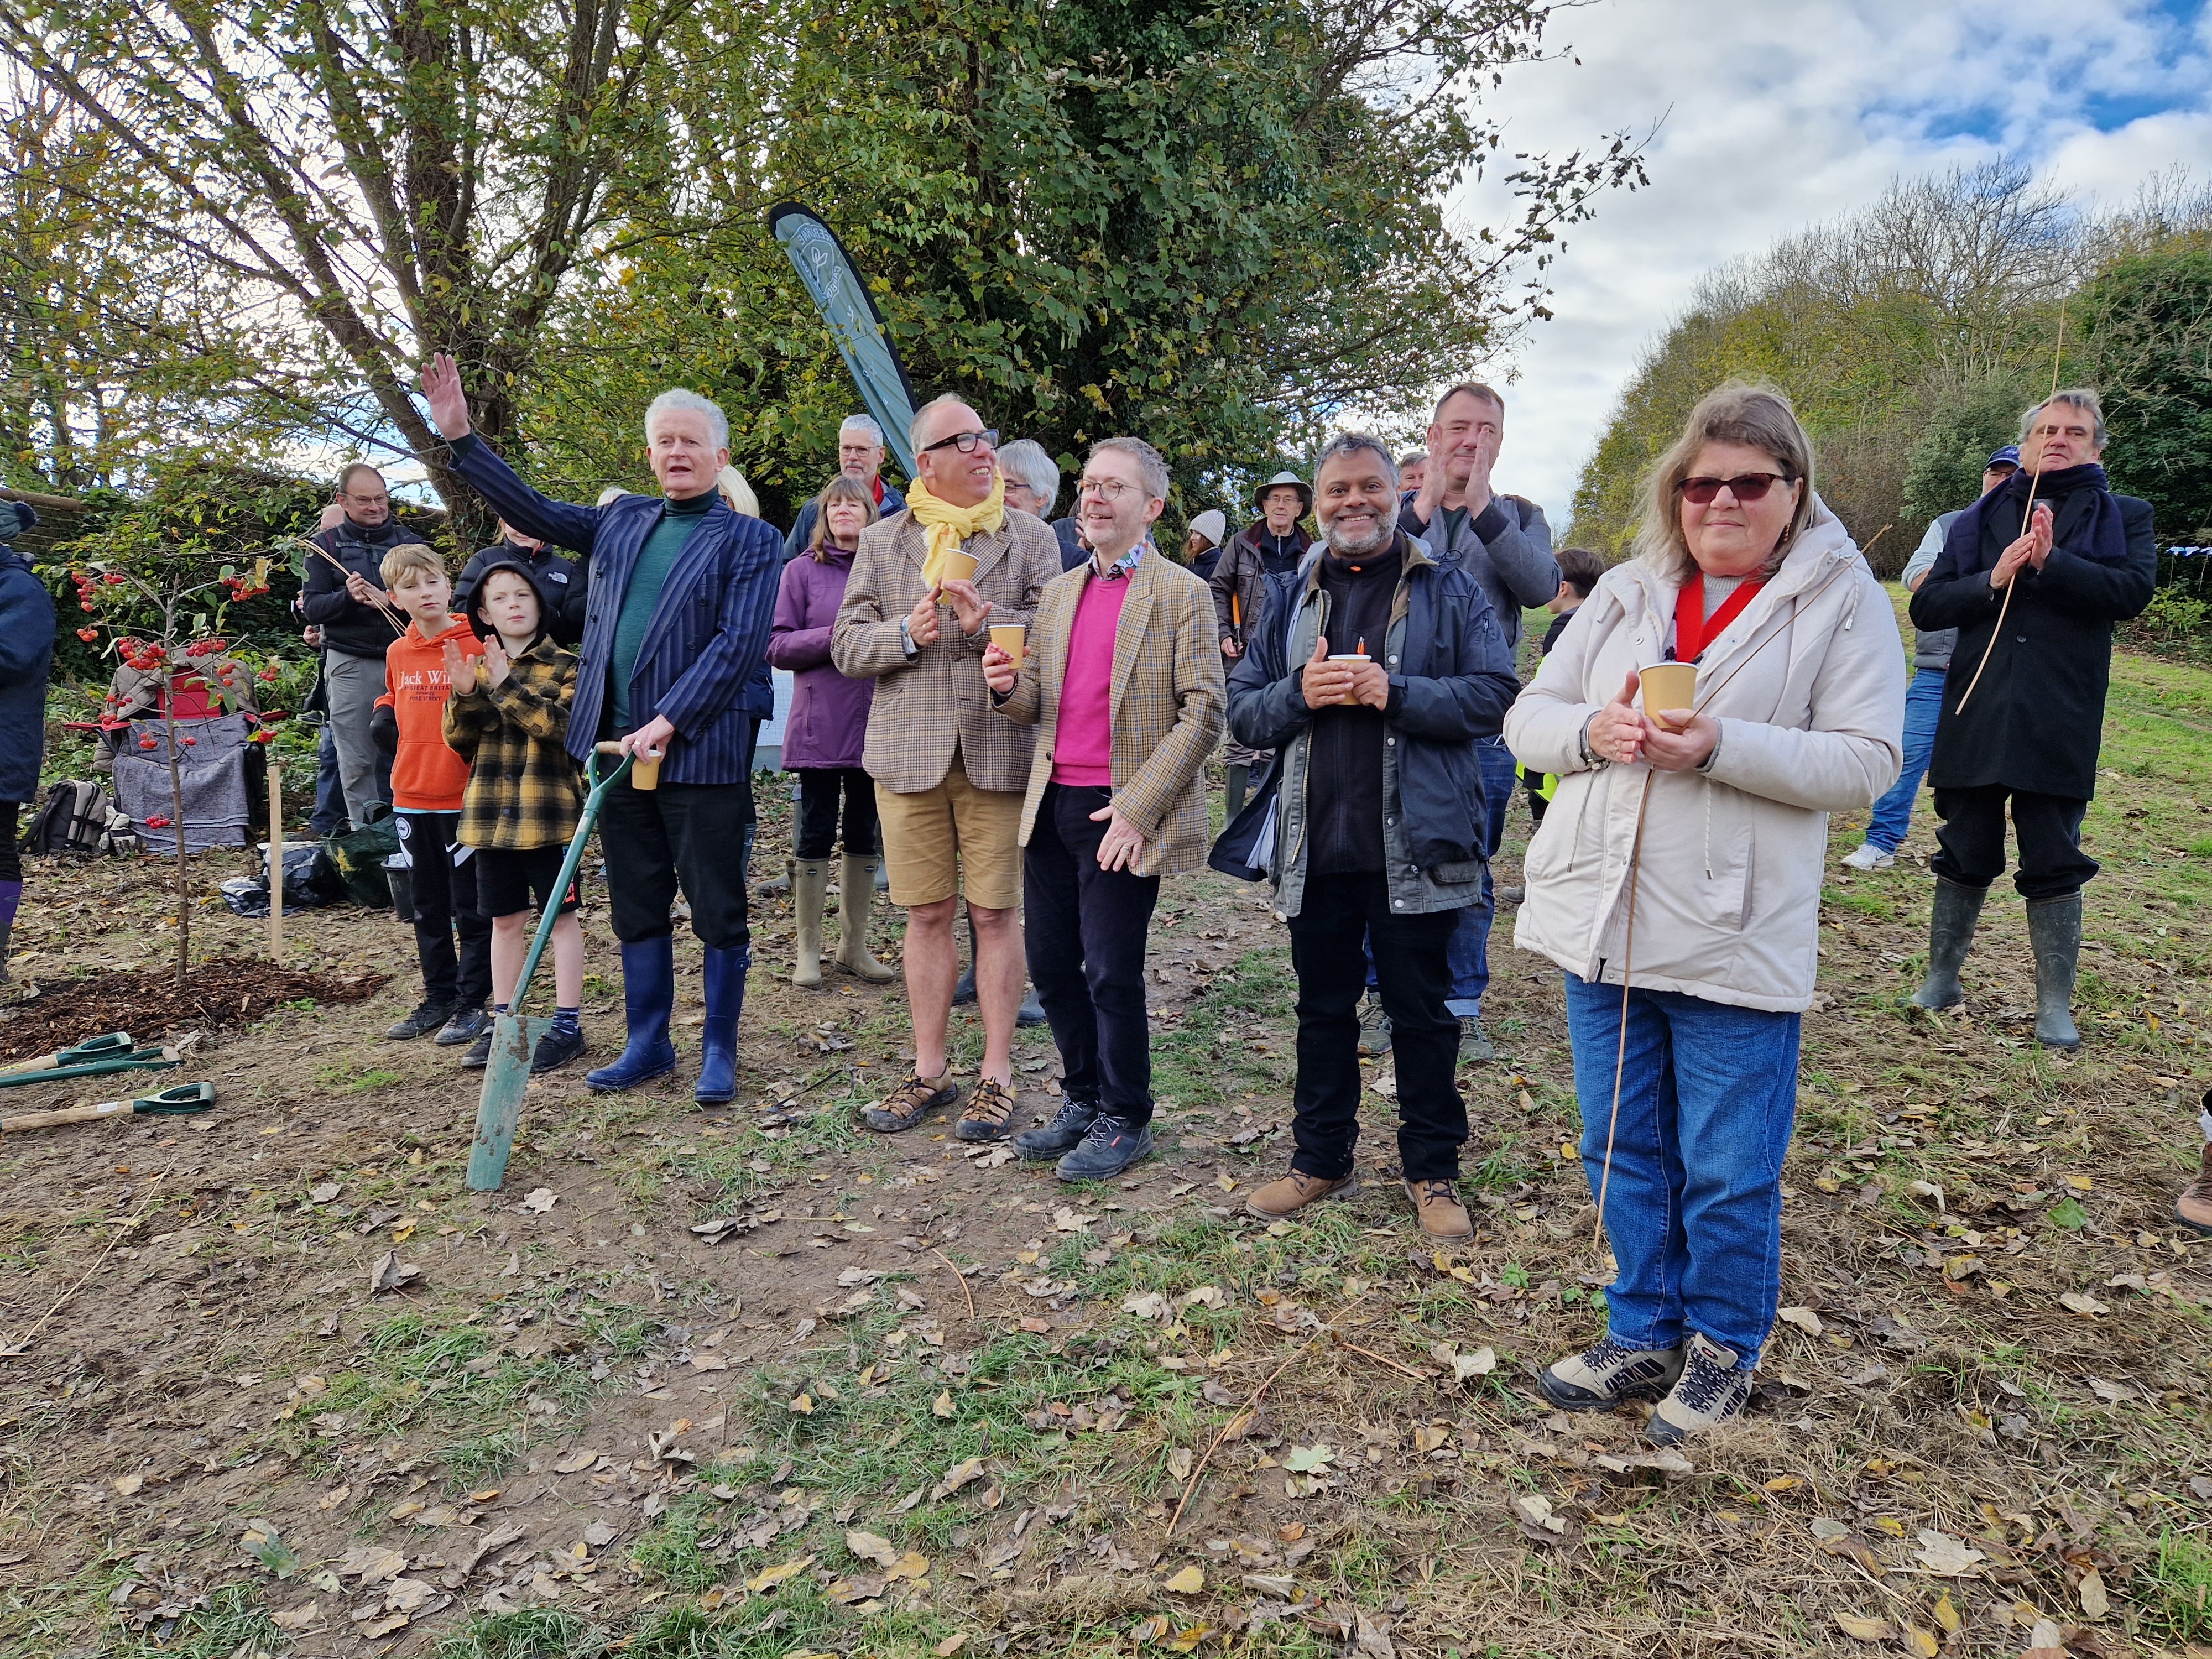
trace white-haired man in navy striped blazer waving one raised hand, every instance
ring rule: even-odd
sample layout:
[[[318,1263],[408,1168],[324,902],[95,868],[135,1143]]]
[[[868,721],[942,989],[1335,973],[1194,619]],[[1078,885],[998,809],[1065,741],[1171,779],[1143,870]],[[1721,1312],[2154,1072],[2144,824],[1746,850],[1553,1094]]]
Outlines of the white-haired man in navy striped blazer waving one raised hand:
[[[608,909],[622,942],[628,1044],[584,1082],[630,1088],[675,1071],[677,883],[706,947],[701,1102],[737,1093],[737,1018],[745,1006],[752,936],[739,847],[752,821],[752,719],[745,681],[768,653],[783,575],[783,538],[730,511],[714,480],[730,465],[730,422],[695,392],[664,392],[646,409],[646,453],[661,495],[606,507],[546,500],[469,429],[453,358],[422,372],[431,420],[453,469],[500,518],[582,560],[584,666],[568,717],[577,761],[602,739],[639,759],[666,757],[659,787],[630,779],[606,799],[599,847]]]

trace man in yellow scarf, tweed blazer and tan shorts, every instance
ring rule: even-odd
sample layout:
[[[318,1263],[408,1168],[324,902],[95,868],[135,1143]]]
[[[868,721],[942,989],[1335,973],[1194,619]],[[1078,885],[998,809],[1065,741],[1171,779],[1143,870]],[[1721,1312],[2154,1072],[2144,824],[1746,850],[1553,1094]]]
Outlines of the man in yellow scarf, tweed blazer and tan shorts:
[[[993,626],[1029,626],[1060,575],[1044,520],[1006,507],[998,434],[947,394],[911,427],[918,478],[907,509],[860,531],[830,635],[841,675],[874,679],[860,765],[876,779],[891,902],[907,911],[914,1071],[863,1113],[914,1128],[960,1099],[945,1055],[960,956],[953,911],[975,929],[984,1053],[953,1133],[995,1141],[1013,1117],[1013,1018],[1022,1000],[1022,792],[1035,732],[991,710],[982,653]]]

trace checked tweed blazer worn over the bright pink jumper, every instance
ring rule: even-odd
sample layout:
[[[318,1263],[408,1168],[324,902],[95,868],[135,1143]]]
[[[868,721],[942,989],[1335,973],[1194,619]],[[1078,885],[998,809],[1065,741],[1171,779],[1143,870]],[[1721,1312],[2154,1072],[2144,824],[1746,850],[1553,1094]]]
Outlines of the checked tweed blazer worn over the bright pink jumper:
[[[1060,688],[1068,675],[1068,635],[1097,564],[1084,560],[1037,602],[1029,653],[998,712],[1040,728],[1022,801],[1022,845],[1053,779]],[[1212,591],[1159,549],[1128,573],[1128,597],[1113,637],[1113,803],[1144,832],[1133,876],[1179,876],[1206,863],[1206,757],[1221,739],[1221,639]]]

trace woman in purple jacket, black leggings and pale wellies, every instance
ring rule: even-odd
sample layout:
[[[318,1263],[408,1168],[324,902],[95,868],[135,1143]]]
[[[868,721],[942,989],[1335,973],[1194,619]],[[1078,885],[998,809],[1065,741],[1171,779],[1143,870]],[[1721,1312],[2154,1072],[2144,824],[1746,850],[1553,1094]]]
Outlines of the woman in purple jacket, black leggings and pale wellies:
[[[830,626],[845,599],[860,531],[876,522],[867,484],[838,473],[814,498],[810,557],[783,566],[768,661],[790,668],[792,712],[783,723],[783,765],[799,774],[799,830],[792,836],[792,905],[799,911],[799,967],[792,984],[823,982],[823,902],[830,894],[830,843],[838,790],[845,794],[845,867],[838,874],[836,964],[885,982],[891,969],[867,953],[867,907],[876,896],[876,781],[860,770],[874,679],[847,679],[830,666]]]

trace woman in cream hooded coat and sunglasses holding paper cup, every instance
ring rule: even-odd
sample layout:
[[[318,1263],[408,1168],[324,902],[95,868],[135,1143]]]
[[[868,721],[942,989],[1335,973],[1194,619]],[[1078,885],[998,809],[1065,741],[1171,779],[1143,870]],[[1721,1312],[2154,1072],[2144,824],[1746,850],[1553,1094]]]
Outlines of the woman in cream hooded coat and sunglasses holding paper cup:
[[[1559,776],[1515,945],[1564,969],[1619,1276],[1604,1340],[1542,1387],[1657,1398],[1672,1442],[1743,1409],[1774,1327],[1827,814],[1898,776],[1905,650],[1790,403],[1745,385],[1690,414],[1582,613],[1506,714]]]

